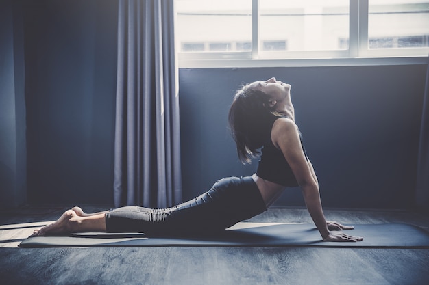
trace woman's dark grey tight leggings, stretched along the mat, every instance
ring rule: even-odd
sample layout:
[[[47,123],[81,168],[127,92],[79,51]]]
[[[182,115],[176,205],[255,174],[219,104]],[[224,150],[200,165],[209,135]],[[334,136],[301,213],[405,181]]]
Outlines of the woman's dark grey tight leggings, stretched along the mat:
[[[171,208],[125,206],[106,214],[107,232],[188,236],[219,232],[267,210],[252,177],[223,178],[206,193]]]

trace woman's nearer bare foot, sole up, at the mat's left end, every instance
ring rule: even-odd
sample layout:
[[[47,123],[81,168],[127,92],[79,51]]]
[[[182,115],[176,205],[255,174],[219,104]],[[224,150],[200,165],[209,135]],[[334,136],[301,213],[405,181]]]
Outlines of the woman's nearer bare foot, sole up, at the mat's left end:
[[[60,219],[53,223],[35,230],[32,236],[56,236],[69,234],[75,228],[73,225],[79,223],[79,216],[73,210],[67,210],[61,215]]]

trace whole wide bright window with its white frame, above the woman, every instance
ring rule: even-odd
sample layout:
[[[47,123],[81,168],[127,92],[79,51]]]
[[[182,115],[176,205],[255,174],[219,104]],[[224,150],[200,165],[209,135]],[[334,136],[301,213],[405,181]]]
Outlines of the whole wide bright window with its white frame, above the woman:
[[[176,0],[180,61],[424,57],[429,0]]]

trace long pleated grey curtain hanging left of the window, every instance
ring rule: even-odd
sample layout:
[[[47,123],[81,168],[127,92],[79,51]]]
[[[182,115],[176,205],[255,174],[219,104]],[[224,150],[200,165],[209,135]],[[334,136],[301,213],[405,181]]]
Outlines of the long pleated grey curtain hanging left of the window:
[[[114,205],[182,202],[174,0],[119,0]]]

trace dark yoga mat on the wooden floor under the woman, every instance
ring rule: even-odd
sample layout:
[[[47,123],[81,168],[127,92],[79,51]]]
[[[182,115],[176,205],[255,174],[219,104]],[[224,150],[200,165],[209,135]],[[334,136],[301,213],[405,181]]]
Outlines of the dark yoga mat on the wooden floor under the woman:
[[[313,224],[237,223],[215,236],[151,237],[145,234],[84,233],[69,236],[34,236],[19,247],[160,247],[160,246],[235,246],[235,247],[389,247],[429,248],[429,232],[407,224],[354,225],[344,231],[364,240],[333,243],[321,240]]]

